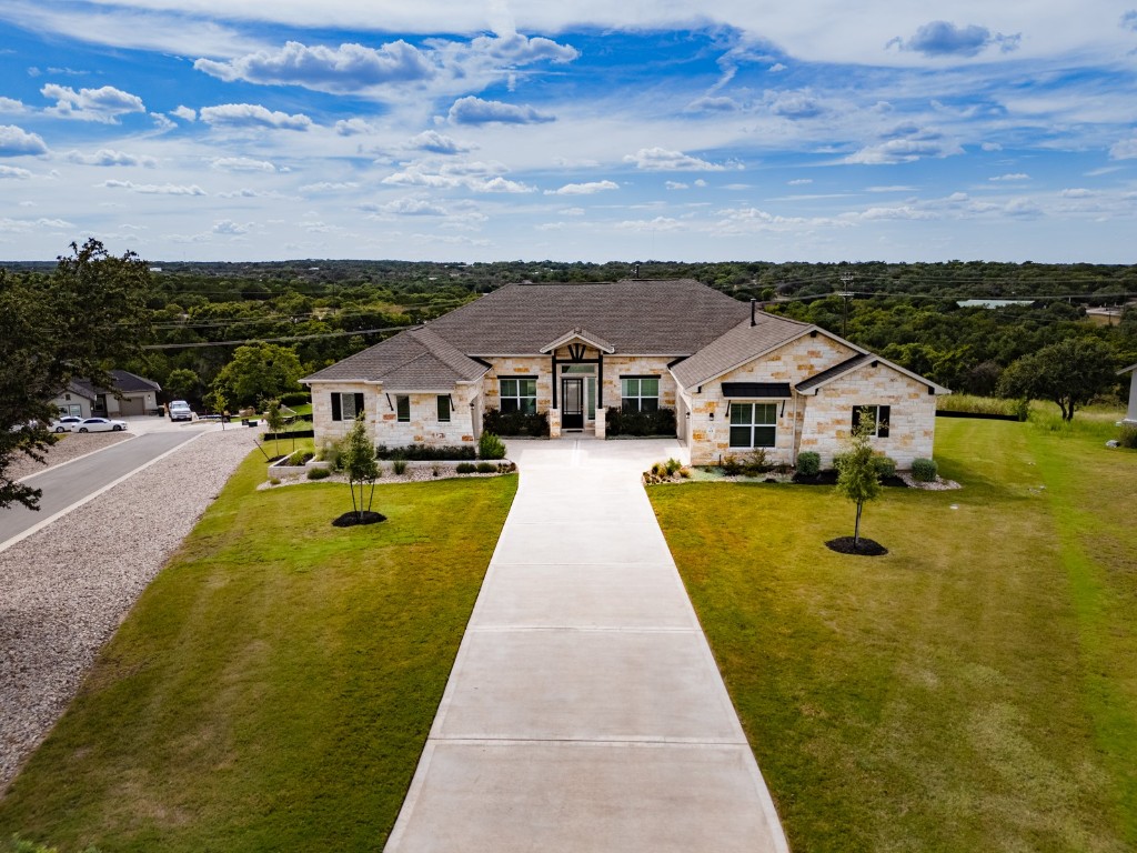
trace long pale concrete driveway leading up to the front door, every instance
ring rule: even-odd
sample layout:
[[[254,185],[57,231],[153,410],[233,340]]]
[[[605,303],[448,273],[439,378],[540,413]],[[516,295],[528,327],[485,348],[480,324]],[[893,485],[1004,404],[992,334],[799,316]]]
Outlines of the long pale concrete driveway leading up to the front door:
[[[515,441],[516,499],[387,844],[787,851],[640,485],[674,441]]]

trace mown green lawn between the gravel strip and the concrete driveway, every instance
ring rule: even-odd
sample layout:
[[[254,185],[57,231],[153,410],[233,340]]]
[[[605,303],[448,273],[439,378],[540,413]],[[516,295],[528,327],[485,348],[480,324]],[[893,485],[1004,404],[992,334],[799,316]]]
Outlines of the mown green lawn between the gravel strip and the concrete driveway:
[[[230,481],[0,801],[73,853],[380,850],[515,477],[381,486]]]

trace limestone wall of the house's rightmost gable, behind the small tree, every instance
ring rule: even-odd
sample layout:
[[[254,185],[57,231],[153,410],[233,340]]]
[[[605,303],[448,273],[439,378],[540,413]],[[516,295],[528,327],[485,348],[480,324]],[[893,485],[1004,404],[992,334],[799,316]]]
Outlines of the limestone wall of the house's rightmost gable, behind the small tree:
[[[872,439],[873,447],[907,469],[912,461],[931,458],[936,439],[936,397],[916,382],[882,363],[864,364],[839,380],[805,397],[800,450],[821,454],[821,464],[832,464],[841,442],[853,429],[853,409],[890,406],[888,438]]]

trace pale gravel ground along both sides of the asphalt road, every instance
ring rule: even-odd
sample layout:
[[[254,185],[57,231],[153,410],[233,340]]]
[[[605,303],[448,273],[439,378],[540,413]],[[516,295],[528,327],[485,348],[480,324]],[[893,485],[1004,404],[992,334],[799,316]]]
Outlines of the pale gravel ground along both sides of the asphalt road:
[[[68,437],[52,455],[76,438],[88,437]],[[99,648],[254,449],[247,430],[205,432],[0,552],[0,793],[67,707]]]

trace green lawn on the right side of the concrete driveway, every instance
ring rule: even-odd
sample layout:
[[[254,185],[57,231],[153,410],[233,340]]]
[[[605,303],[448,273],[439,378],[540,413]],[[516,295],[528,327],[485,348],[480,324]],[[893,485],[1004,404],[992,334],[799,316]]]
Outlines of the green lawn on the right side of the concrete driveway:
[[[1084,420],[940,420],[965,488],[886,490],[883,557],[831,488],[650,489],[791,847],[1137,847],[1137,454]]]

